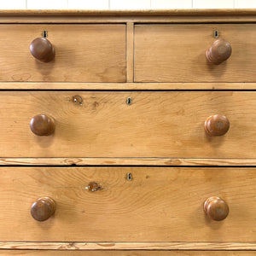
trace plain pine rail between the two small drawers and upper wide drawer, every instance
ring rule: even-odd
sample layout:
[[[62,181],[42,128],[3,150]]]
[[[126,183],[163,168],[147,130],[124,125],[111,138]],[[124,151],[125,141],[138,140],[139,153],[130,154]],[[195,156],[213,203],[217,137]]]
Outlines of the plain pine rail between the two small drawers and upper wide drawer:
[[[130,68],[130,74],[131,69]],[[131,78],[129,78],[131,80]],[[1,90],[256,90],[256,83],[0,82]]]

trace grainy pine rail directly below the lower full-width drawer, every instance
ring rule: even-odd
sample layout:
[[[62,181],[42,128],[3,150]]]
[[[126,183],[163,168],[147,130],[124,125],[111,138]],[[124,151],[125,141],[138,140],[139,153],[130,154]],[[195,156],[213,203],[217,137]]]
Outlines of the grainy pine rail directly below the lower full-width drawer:
[[[0,249],[254,251],[256,242],[0,242]]]

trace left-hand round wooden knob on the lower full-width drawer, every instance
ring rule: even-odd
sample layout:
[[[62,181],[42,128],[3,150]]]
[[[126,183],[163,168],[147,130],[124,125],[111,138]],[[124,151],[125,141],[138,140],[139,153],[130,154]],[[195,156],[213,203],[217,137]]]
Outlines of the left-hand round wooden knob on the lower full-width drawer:
[[[55,201],[49,197],[40,197],[32,204],[32,218],[38,221],[44,221],[55,212]]]

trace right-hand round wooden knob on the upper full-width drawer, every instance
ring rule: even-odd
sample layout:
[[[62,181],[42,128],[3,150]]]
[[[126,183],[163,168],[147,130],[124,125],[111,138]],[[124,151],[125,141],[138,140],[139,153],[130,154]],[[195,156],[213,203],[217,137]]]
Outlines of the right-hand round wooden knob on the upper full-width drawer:
[[[205,130],[208,135],[222,136],[230,129],[230,121],[224,115],[214,114],[205,122]]]

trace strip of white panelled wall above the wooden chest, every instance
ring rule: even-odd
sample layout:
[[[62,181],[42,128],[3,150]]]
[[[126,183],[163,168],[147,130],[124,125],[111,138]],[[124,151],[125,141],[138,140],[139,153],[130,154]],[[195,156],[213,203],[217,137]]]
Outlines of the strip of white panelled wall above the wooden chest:
[[[0,0],[0,9],[256,8],[256,0]]]

